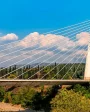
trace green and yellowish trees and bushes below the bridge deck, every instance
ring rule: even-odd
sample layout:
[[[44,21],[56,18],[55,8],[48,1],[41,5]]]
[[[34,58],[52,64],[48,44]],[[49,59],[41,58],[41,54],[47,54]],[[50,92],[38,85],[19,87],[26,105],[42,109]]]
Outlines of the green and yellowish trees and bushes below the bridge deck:
[[[0,101],[45,112],[90,112],[90,89],[79,84],[67,89],[53,86],[46,90],[44,86],[41,90],[27,86],[14,93],[0,87]]]

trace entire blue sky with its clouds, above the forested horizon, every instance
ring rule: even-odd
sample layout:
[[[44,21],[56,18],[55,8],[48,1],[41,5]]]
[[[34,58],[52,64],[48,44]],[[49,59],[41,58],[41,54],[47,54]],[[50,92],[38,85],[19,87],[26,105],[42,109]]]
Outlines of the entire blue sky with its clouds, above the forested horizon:
[[[57,62],[61,62],[61,60],[80,46],[82,48],[79,48],[78,51],[76,50],[71,56],[73,57],[74,54],[77,54],[78,57],[83,52],[85,57],[86,50],[84,46],[89,41],[89,33],[85,30],[86,28],[88,29],[87,25],[79,26],[83,28],[82,31],[78,30],[78,28],[74,28],[77,32],[70,30],[71,33],[69,35],[51,33],[45,35],[43,33],[89,20],[89,11],[90,0],[1,0],[0,45],[20,39],[23,40],[17,44],[0,46],[0,66],[10,65],[28,56],[31,57],[23,63],[30,62],[46,54],[45,57],[38,59],[34,63],[42,62],[44,59],[61,52],[49,61],[46,61],[52,62],[75,46],[71,52],[58,59]],[[75,34],[73,35],[73,33]],[[76,43],[78,45],[75,45],[75,41],[71,38],[77,39]],[[17,47],[15,47],[16,45]],[[37,49],[38,47],[40,48]],[[48,47],[52,48],[46,50]],[[8,50],[6,50],[7,48]],[[53,52],[55,49],[57,50]],[[16,52],[16,50],[20,51]],[[13,53],[14,51],[15,53]],[[22,54],[23,56],[21,56]],[[37,55],[33,56],[33,54]],[[20,57],[15,59],[14,57],[18,55]],[[65,63],[72,57],[69,57]],[[7,61],[8,59],[12,60],[9,62]]]

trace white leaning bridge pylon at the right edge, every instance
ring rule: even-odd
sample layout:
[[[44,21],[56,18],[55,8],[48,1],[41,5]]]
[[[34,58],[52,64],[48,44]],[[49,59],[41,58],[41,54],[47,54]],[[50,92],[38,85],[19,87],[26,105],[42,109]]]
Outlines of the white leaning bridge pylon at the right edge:
[[[90,42],[88,44],[84,80],[90,80]]]

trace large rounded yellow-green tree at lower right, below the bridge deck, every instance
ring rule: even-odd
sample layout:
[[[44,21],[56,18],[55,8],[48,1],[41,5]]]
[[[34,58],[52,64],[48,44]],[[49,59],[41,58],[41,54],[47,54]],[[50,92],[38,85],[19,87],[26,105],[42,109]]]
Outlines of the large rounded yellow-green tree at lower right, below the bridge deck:
[[[90,100],[73,90],[62,89],[51,101],[52,112],[90,112]]]

